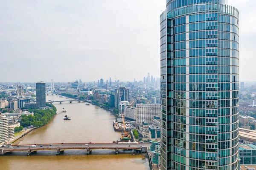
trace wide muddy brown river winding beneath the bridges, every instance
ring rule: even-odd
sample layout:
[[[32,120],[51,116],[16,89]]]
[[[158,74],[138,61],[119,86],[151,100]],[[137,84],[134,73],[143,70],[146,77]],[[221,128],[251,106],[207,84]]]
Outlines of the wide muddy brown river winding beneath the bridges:
[[[46,100],[67,100],[49,95]],[[85,103],[54,103],[59,113],[44,127],[33,130],[17,143],[70,143],[70,142],[112,142],[119,140],[120,132],[113,130],[114,115],[100,107]],[[64,121],[64,115],[71,120]],[[0,170],[149,170],[148,159],[142,155],[112,150],[94,150],[88,156],[84,150],[66,150],[56,156],[55,151],[38,151],[31,156],[13,152],[0,156]]]

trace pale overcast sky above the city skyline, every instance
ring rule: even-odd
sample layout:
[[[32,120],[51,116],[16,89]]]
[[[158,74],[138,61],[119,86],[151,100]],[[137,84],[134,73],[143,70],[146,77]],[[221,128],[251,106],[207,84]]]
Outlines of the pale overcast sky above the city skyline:
[[[240,81],[256,81],[255,0],[240,12]],[[0,81],[120,81],[160,77],[166,0],[3,0]]]

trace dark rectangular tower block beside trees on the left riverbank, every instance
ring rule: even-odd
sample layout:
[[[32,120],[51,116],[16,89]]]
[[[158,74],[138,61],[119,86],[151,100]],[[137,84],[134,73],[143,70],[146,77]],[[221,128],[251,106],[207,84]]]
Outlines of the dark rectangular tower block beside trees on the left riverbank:
[[[43,81],[36,83],[36,107],[46,107],[45,83]]]

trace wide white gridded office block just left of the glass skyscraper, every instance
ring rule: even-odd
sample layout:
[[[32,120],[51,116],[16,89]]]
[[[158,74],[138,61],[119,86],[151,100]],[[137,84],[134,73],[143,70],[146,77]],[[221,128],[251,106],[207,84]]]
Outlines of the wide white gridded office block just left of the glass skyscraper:
[[[136,123],[153,123],[154,116],[160,117],[160,104],[136,104]]]

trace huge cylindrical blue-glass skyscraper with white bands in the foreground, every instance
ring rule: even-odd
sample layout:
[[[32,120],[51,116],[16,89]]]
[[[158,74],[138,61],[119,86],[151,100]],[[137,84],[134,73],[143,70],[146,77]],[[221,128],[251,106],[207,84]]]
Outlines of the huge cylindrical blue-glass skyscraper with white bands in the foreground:
[[[238,10],[166,0],[160,53],[161,169],[238,170]]]

